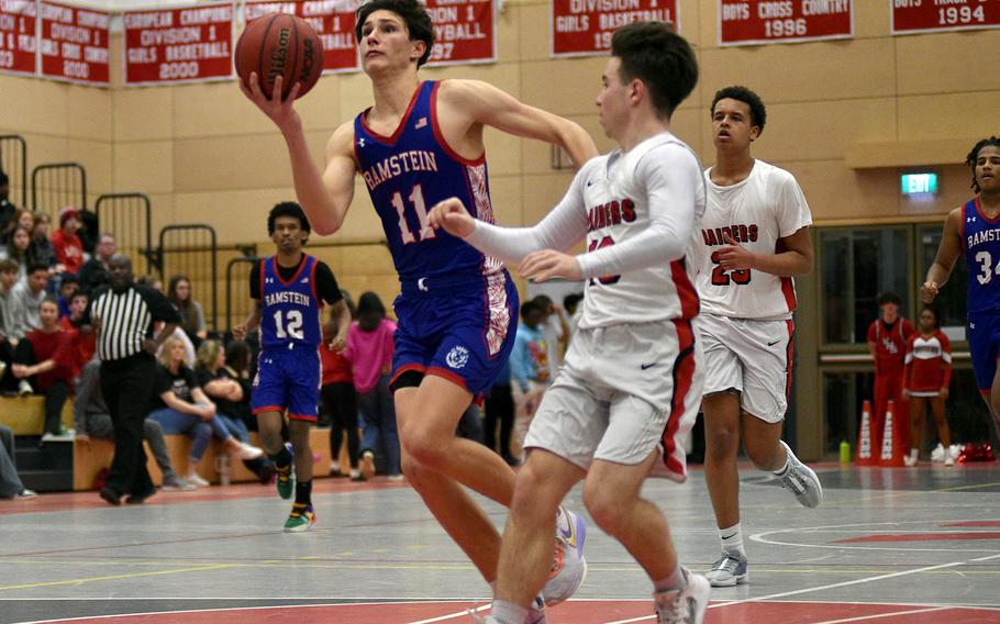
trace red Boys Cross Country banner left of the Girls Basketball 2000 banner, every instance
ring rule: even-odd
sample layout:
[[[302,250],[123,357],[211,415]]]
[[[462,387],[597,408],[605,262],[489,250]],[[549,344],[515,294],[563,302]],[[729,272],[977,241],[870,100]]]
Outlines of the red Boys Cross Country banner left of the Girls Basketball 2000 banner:
[[[57,80],[107,86],[111,75],[105,11],[44,1],[42,75]]]

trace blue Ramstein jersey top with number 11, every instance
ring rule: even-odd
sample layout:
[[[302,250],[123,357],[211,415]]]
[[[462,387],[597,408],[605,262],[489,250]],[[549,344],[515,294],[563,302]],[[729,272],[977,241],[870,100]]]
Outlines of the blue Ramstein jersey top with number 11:
[[[404,282],[500,268],[471,245],[427,224],[427,212],[451,197],[460,199],[476,219],[493,222],[486,155],[468,160],[445,143],[434,112],[438,85],[421,82],[392,136],[368,129],[368,111],[354,120],[355,155]]]

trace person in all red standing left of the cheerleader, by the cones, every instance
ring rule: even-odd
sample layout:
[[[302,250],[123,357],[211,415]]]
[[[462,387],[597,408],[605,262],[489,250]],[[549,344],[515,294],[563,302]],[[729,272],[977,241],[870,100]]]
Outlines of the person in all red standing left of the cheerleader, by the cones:
[[[868,326],[868,350],[875,358],[875,413],[873,448],[881,448],[882,432],[886,427],[886,409],[889,401],[896,402],[892,414],[895,425],[902,427],[903,438],[909,434],[909,409],[903,401],[903,358],[907,341],[913,335],[913,323],[899,315],[901,301],[895,292],[878,297],[879,317]],[[905,439],[903,441],[905,443]],[[903,448],[907,448],[903,446]]]

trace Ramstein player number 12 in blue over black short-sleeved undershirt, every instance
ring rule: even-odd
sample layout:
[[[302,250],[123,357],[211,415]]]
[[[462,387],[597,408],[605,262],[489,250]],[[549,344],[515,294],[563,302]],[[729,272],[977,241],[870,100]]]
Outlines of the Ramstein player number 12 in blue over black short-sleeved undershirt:
[[[251,269],[254,311],[246,323],[233,327],[233,336],[242,341],[247,330],[260,325],[251,409],[257,416],[262,446],[275,463],[278,494],[289,499],[295,492],[285,531],[298,533],[316,520],[309,430],[316,422],[320,400],[323,303],[332,307],[331,317],[337,323],[333,348],[344,348],[351,314],[330,267],[302,253],[310,226],[299,204],[289,201],[273,208],[267,233],[277,253]],[[291,453],[281,439],[286,415]]]

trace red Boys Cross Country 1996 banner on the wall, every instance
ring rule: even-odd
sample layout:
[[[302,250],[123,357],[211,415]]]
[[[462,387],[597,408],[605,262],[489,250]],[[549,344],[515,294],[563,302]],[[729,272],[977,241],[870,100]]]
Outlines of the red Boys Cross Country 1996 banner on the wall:
[[[854,0],[719,0],[722,46],[853,36]]]

